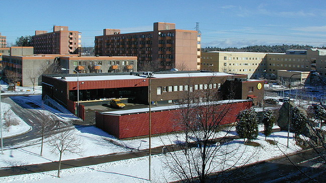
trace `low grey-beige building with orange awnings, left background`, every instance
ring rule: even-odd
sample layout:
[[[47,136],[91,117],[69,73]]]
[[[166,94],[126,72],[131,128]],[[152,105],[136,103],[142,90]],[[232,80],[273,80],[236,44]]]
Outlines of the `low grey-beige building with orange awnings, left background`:
[[[2,49],[0,48],[0,51]],[[74,73],[74,70],[78,73],[135,72],[137,70],[137,57],[34,55],[33,47],[11,47],[8,50],[8,54],[2,55],[1,65],[4,70],[14,71],[17,74],[21,86],[41,85],[42,74],[57,74],[58,68],[68,69],[61,71],[62,73]]]

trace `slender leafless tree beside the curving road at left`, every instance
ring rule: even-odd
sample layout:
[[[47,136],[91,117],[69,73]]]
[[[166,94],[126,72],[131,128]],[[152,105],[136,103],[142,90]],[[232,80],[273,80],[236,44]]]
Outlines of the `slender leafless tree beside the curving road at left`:
[[[41,152],[40,152],[40,156],[43,156],[44,135],[45,135],[46,132],[51,131],[57,125],[59,125],[59,121],[54,116],[50,116],[50,115],[39,116],[39,119],[40,119],[40,122],[39,122],[39,125],[37,126],[37,129],[41,133]]]

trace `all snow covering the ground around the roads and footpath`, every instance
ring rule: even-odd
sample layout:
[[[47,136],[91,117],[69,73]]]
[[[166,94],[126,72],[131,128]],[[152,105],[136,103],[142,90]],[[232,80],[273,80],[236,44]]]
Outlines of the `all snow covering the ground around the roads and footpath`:
[[[2,89],[4,90],[4,88]],[[5,94],[30,92],[27,90],[28,89],[26,88],[18,88],[17,92],[5,92]],[[41,92],[41,89],[37,89],[35,93],[37,92]],[[33,100],[33,102],[37,104],[40,104],[42,102],[42,100],[40,100],[40,96],[31,96],[28,100]],[[9,107],[8,104],[2,104],[3,110],[6,110]],[[54,109],[47,109],[53,113],[58,113],[58,111]],[[65,116],[64,118],[66,120],[69,120],[69,116],[72,117],[71,114],[60,115]],[[28,128],[30,128],[30,126],[28,126],[24,121],[21,121],[20,124],[21,125],[17,126],[17,129],[15,129],[16,132],[14,132],[14,128],[11,129],[11,131],[13,130],[11,135],[17,132],[26,131]],[[74,159],[118,152],[130,152],[148,148],[148,138],[118,140],[115,137],[107,134],[106,132],[94,126],[76,126],[74,130],[75,133],[83,141],[83,144],[81,145],[83,153],[81,154],[81,156],[76,154],[64,154],[63,159]],[[263,128],[260,126],[259,130],[261,131],[263,130]],[[228,135],[234,134],[236,134],[236,132],[234,131],[234,129],[232,129],[231,133]],[[180,138],[182,138],[182,135],[183,134],[180,134]],[[219,135],[224,136],[226,135],[226,132],[222,131]],[[283,155],[282,151],[284,151],[285,153],[291,153],[300,150],[300,147],[295,145],[295,141],[292,138],[292,134],[290,134],[290,147],[286,148],[286,136],[287,132],[284,131],[272,134],[267,139],[275,140],[278,143],[277,145],[271,145],[270,143],[264,140],[264,135],[259,133],[259,136],[255,140],[255,142],[261,144],[260,147],[244,145],[243,139],[240,139],[232,141],[228,146],[224,145],[223,148],[238,148],[240,151],[246,152],[247,156],[250,156],[255,152],[255,158],[247,162],[251,163]],[[156,147],[161,146],[163,144],[169,144],[169,139],[171,138],[171,135],[152,137],[151,146]],[[0,166],[2,168],[5,168],[9,166],[36,164],[59,160],[58,155],[50,152],[50,146],[47,145],[47,140],[49,139],[45,140],[43,156],[39,155],[41,150],[40,139],[35,139],[33,141],[29,141],[16,146],[5,147],[4,154],[0,154]],[[33,145],[25,146],[26,144]],[[279,149],[282,149],[282,151]],[[170,176],[171,174],[168,169],[164,168],[164,159],[165,155],[152,156],[152,180],[154,182],[166,182],[177,180],[174,179],[173,176]],[[232,162],[229,163],[232,164]],[[57,178],[56,175],[57,171],[31,173],[24,175],[0,177],[0,182],[146,182],[148,181],[148,157],[140,157],[91,166],[62,169],[61,178]]]

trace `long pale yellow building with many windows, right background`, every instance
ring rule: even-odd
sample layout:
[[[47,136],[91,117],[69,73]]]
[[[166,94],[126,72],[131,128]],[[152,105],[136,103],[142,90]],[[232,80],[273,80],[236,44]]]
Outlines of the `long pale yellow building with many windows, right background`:
[[[286,50],[285,53],[203,52],[201,66],[202,70],[247,74],[248,78],[275,78],[278,70],[312,70],[326,76],[326,50]]]

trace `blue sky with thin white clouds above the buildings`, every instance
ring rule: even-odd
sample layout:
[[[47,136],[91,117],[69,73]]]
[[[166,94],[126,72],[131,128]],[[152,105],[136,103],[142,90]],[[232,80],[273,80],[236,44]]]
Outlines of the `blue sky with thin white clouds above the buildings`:
[[[326,46],[326,1],[85,1],[2,0],[0,32],[7,42],[52,32],[53,25],[82,33],[82,46],[94,46],[103,29],[121,33],[152,31],[154,22],[195,30],[202,47],[299,44]]]

